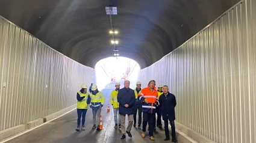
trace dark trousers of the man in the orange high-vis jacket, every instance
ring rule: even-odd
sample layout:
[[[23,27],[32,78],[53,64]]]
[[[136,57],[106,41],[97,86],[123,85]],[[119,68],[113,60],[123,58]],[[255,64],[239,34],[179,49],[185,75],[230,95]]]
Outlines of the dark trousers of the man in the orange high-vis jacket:
[[[149,136],[153,136],[155,114],[143,112],[142,131],[146,132],[146,124],[149,126]]]

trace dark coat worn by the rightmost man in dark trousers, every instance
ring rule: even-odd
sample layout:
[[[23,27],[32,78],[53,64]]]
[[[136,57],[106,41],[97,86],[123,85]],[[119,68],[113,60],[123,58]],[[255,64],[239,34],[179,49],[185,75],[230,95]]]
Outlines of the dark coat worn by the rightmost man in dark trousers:
[[[176,99],[175,96],[168,92],[167,97],[162,94],[159,97],[160,108],[162,112],[162,117],[164,121],[173,121],[175,120],[175,106],[176,106]]]

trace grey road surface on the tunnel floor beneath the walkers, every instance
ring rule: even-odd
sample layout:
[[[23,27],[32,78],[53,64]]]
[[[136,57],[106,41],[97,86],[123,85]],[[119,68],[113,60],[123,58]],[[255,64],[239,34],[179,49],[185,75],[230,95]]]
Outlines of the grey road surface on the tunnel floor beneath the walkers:
[[[51,122],[44,124],[43,126],[37,127],[36,129],[24,133],[23,135],[17,136],[16,138],[13,138],[7,142],[165,142],[164,130],[160,130],[158,128],[157,132],[154,132],[155,141],[149,140],[148,131],[146,131],[146,138],[143,139],[141,137],[142,130],[139,130],[137,127],[133,127],[131,129],[131,134],[133,135],[133,138],[130,138],[128,135],[126,135],[126,139],[120,139],[122,135],[121,130],[114,129],[114,112],[112,106],[110,106],[111,112],[107,112],[109,97],[111,91],[114,90],[114,84],[114,82],[111,82],[103,90],[101,90],[105,96],[105,104],[102,107],[101,111],[102,124],[104,127],[103,130],[92,130],[92,109],[89,108],[86,114],[86,130],[76,132],[75,129],[77,114],[76,109],[74,109],[73,111],[69,112],[66,115],[63,115],[60,118],[52,120]],[[123,85],[121,85],[120,88],[123,88]],[[75,97],[76,93],[74,93],[74,98]],[[128,121],[126,119],[126,126],[127,124]],[[189,139],[180,135],[178,132],[176,132],[176,136],[178,142],[190,142]]]

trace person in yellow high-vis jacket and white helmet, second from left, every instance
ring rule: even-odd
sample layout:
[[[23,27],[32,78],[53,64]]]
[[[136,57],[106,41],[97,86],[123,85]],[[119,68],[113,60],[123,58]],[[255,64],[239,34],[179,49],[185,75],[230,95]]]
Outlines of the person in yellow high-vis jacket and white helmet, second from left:
[[[93,127],[92,129],[99,129],[99,121],[101,116],[101,108],[105,103],[105,97],[101,91],[98,90],[96,85],[92,85],[92,93],[90,93],[91,98],[91,105],[90,108],[92,108],[92,115],[93,115]],[[97,122],[96,122],[97,117]],[[97,123],[97,124],[96,124]]]

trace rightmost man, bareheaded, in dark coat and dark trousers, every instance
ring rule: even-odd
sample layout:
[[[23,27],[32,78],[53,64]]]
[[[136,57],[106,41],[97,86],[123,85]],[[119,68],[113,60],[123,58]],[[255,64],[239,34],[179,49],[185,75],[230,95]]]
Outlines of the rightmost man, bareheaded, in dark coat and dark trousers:
[[[168,120],[170,121],[170,126],[172,127],[172,142],[177,142],[176,133],[175,133],[175,106],[176,106],[176,99],[175,96],[169,93],[169,88],[167,85],[163,87],[163,94],[160,96],[160,109],[162,112],[162,117],[164,120],[164,130],[166,138],[164,141],[170,140],[169,129],[168,129]]]

